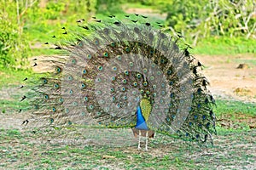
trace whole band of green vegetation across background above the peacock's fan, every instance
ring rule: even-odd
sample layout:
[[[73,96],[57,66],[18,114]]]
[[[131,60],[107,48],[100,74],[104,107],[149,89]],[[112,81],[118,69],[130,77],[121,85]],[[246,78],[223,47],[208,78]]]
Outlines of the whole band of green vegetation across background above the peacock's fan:
[[[160,9],[166,14],[166,29],[179,31],[187,42],[198,45],[195,52],[214,54],[206,48],[213,44],[230,46],[229,54],[255,53],[253,0],[1,0],[0,66],[24,68],[28,57],[42,52],[38,42],[49,40],[56,28],[94,15],[125,14],[125,5]]]

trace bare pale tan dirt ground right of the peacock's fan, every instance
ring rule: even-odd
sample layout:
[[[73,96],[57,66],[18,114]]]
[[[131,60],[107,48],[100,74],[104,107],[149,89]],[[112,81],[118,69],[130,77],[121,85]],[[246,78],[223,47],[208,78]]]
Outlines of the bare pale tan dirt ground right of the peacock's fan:
[[[256,56],[195,56],[205,65],[204,75],[217,98],[256,102]],[[239,65],[241,68],[238,68]]]

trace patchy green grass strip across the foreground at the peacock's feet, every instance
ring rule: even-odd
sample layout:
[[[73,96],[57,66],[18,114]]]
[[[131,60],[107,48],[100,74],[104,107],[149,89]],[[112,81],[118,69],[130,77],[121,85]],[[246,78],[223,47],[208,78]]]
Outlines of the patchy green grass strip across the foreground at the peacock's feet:
[[[213,147],[200,149],[172,141],[169,144],[150,144],[148,152],[138,151],[136,146],[109,148],[51,144],[40,139],[38,134],[21,133],[18,129],[0,129],[0,132],[0,157],[3,160],[0,167],[3,168],[212,169],[219,166],[252,168],[255,162],[255,140],[252,140],[256,138],[255,130],[228,131],[219,128]],[[35,143],[35,140],[38,142]]]

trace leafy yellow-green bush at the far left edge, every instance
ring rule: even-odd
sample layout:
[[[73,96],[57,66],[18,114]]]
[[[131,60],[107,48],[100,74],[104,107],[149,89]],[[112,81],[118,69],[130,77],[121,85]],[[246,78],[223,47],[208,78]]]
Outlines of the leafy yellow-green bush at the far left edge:
[[[0,3],[0,67],[24,66],[30,54],[20,15],[14,10],[17,6],[12,0]]]

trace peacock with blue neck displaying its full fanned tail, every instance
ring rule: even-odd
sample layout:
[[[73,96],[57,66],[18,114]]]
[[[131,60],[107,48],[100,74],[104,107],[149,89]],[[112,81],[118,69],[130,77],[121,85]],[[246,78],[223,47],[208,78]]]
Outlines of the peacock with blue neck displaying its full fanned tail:
[[[63,27],[55,43],[67,56],[34,59],[47,71],[24,79],[29,92],[21,100],[29,100],[32,117],[23,124],[131,127],[138,150],[142,137],[148,150],[155,133],[212,143],[215,101],[181,35],[139,14],[77,22],[79,31]]]

